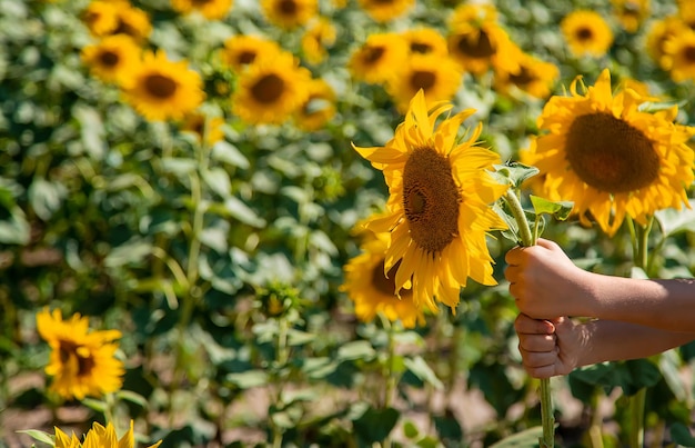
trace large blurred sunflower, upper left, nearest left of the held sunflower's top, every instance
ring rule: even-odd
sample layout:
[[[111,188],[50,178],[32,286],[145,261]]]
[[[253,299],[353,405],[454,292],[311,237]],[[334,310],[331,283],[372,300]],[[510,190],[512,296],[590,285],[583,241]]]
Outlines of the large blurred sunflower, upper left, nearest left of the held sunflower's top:
[[[306,101],[310,81],[311,73],[290,53],[264,59],[239,76],[232,110],[246,123],[280,125]]]

